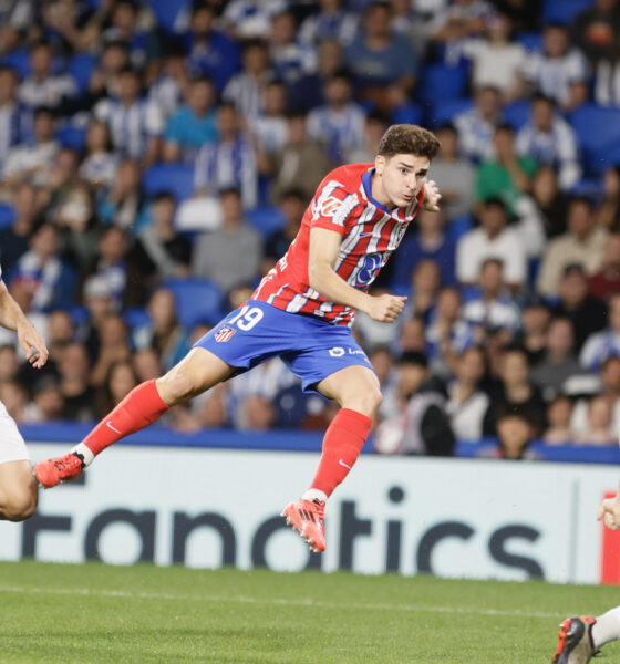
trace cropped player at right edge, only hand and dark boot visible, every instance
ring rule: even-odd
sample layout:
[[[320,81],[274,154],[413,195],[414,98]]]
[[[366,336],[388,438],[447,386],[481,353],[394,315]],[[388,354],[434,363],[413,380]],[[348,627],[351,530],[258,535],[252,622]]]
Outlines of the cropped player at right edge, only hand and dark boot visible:
[[[606,498],[597,519],[611,530],[620,530],[620,486],[613,498]],[[567,618],[560,625],[560,641],[551,657],[558,664],[587,664],[601,645],[620,639],[620,606],[598,618]]]

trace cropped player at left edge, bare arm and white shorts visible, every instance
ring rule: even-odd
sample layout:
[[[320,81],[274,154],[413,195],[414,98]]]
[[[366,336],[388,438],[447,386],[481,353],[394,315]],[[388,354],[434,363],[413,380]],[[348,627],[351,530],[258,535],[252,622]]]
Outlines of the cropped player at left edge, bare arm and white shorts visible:
[[[0,325],[18,333],[30,364],[41,369],[48,361],[43,338],[34,330],[2,281],[0,269]],[[23,521],[37,509],[37,481],[30,457],[13,418],[0,402],[0,519]]]

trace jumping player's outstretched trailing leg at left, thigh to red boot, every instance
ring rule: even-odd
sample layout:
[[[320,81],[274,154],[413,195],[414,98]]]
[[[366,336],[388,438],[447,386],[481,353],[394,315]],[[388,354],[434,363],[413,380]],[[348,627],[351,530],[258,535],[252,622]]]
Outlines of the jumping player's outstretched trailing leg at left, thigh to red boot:
[[[148,426],[170,406],[230,377],[234,371],[206,349],[192,349],[167,374],[134,387],[70,454],[37,464],[39,484],[50,488],[74,479],[106,447]]]

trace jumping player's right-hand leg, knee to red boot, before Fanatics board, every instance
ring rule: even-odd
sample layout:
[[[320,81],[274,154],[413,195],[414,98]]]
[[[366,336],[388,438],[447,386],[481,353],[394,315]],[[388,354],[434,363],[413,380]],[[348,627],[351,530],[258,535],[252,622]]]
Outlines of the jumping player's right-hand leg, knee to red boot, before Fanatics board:
[[[341,369],[318,384],[318,391],[341,406],[323,438],[319,468],[310,488],[282,511],[314,551],[326,548],[324,505],[349,475],[364,446],[372,419],[381,404],[379,378],[366,366]]]

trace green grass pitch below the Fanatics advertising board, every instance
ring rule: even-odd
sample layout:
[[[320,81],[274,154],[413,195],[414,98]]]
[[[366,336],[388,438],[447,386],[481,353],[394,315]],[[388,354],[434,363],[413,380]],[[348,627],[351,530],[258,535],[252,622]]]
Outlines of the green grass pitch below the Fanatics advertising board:
[[[618,603],[542,582],[0,563],[0,662],[533,664],[562,618]]]

